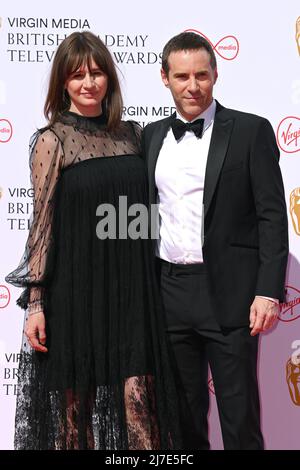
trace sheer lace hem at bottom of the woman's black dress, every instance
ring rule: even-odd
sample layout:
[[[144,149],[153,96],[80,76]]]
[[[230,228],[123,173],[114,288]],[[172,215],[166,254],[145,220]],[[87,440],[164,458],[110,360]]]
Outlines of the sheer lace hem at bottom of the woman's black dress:
[[[51,391],[40,380],[46,374],[41,353],[22,353],[15,449],[173,448],[171,430],[167,443],[161,439],[153,376],[130,377],[114,385]]]

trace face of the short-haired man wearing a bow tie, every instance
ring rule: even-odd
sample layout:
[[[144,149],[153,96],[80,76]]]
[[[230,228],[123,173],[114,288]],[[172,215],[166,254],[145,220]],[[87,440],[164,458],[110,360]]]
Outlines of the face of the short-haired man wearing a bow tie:
[[[170,88],[179,113],[192,121],[212,102],[217,69],[212,69],[205,49],[171,52],[168,63],[169,73],[162,70],[162,80]]]

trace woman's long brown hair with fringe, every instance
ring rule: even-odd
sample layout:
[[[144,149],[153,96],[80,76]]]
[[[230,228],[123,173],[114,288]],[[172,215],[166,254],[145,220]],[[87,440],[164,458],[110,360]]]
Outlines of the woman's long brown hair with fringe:
[[[74,32],[59,45],[53,59],[49,88],[44,106],[44,114],[49,124],[57,121],[59,115],[70,108],[71,102],[65,84],[69,76],[91,61],[107,75],[108,88],[102,103],[107,116],[109,129],[118,127],[122,117],[123,100],[120,83],[112,56],[98,36],[89,32]]]

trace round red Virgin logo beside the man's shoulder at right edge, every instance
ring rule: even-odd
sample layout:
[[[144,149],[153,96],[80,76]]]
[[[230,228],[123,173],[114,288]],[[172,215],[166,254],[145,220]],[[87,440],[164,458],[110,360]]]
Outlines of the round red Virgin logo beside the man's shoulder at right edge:
[[[277,143],[286,153],[300,151],[300,118],[287,116],[277,129]]]

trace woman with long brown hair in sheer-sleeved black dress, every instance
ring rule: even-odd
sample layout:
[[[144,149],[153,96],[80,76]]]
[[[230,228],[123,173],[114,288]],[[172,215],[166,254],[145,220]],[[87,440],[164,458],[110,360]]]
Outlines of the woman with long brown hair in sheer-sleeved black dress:
[[[147,178],[139,127],[121,112],[109,51],[71,34],[31,142],[25,255],[7,277],[25,287],[16,449],[180,446],[151,241],[124,236],[122,207],[147,206]]]

